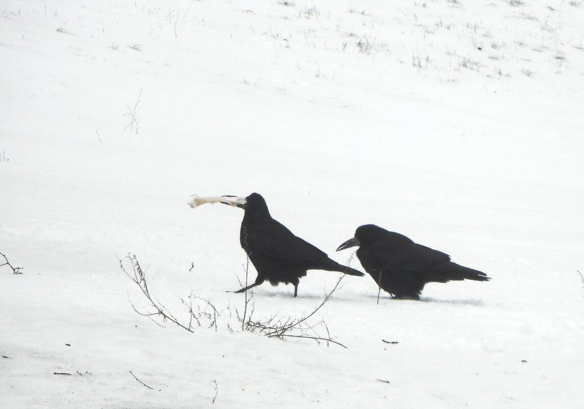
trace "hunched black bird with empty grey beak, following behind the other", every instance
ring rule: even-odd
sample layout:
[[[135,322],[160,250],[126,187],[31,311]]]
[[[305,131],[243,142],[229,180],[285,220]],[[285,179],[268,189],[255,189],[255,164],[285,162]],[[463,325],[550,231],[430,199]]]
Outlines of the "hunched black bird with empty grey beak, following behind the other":
[[[357,227],[355,237],[336,251],[359,246],[357,258],[377,285],[397,299],[419,300],[426,283],[488,281],[485,273],[450,261],[450,256],[416,244],[375,224]]]

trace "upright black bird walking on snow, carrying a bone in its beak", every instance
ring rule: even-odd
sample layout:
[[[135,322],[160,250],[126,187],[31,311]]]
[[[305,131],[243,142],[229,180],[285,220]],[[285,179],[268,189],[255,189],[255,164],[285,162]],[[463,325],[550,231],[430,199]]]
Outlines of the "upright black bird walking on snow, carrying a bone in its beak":
[[[296,297],[298,279],[304,277],[307,270],[364,275],[331,260],[325,252],[297,237],[286,226],[272,219],[266,201],[258,193],[252,193],[245,198],[245,203],[239,203],[237,207],[245,210],[239,242],[258,271],[258,276],[252,285],[243,287],[236,293],[259,286],[268,280],[274,286],[279,283],[293,284]]]

